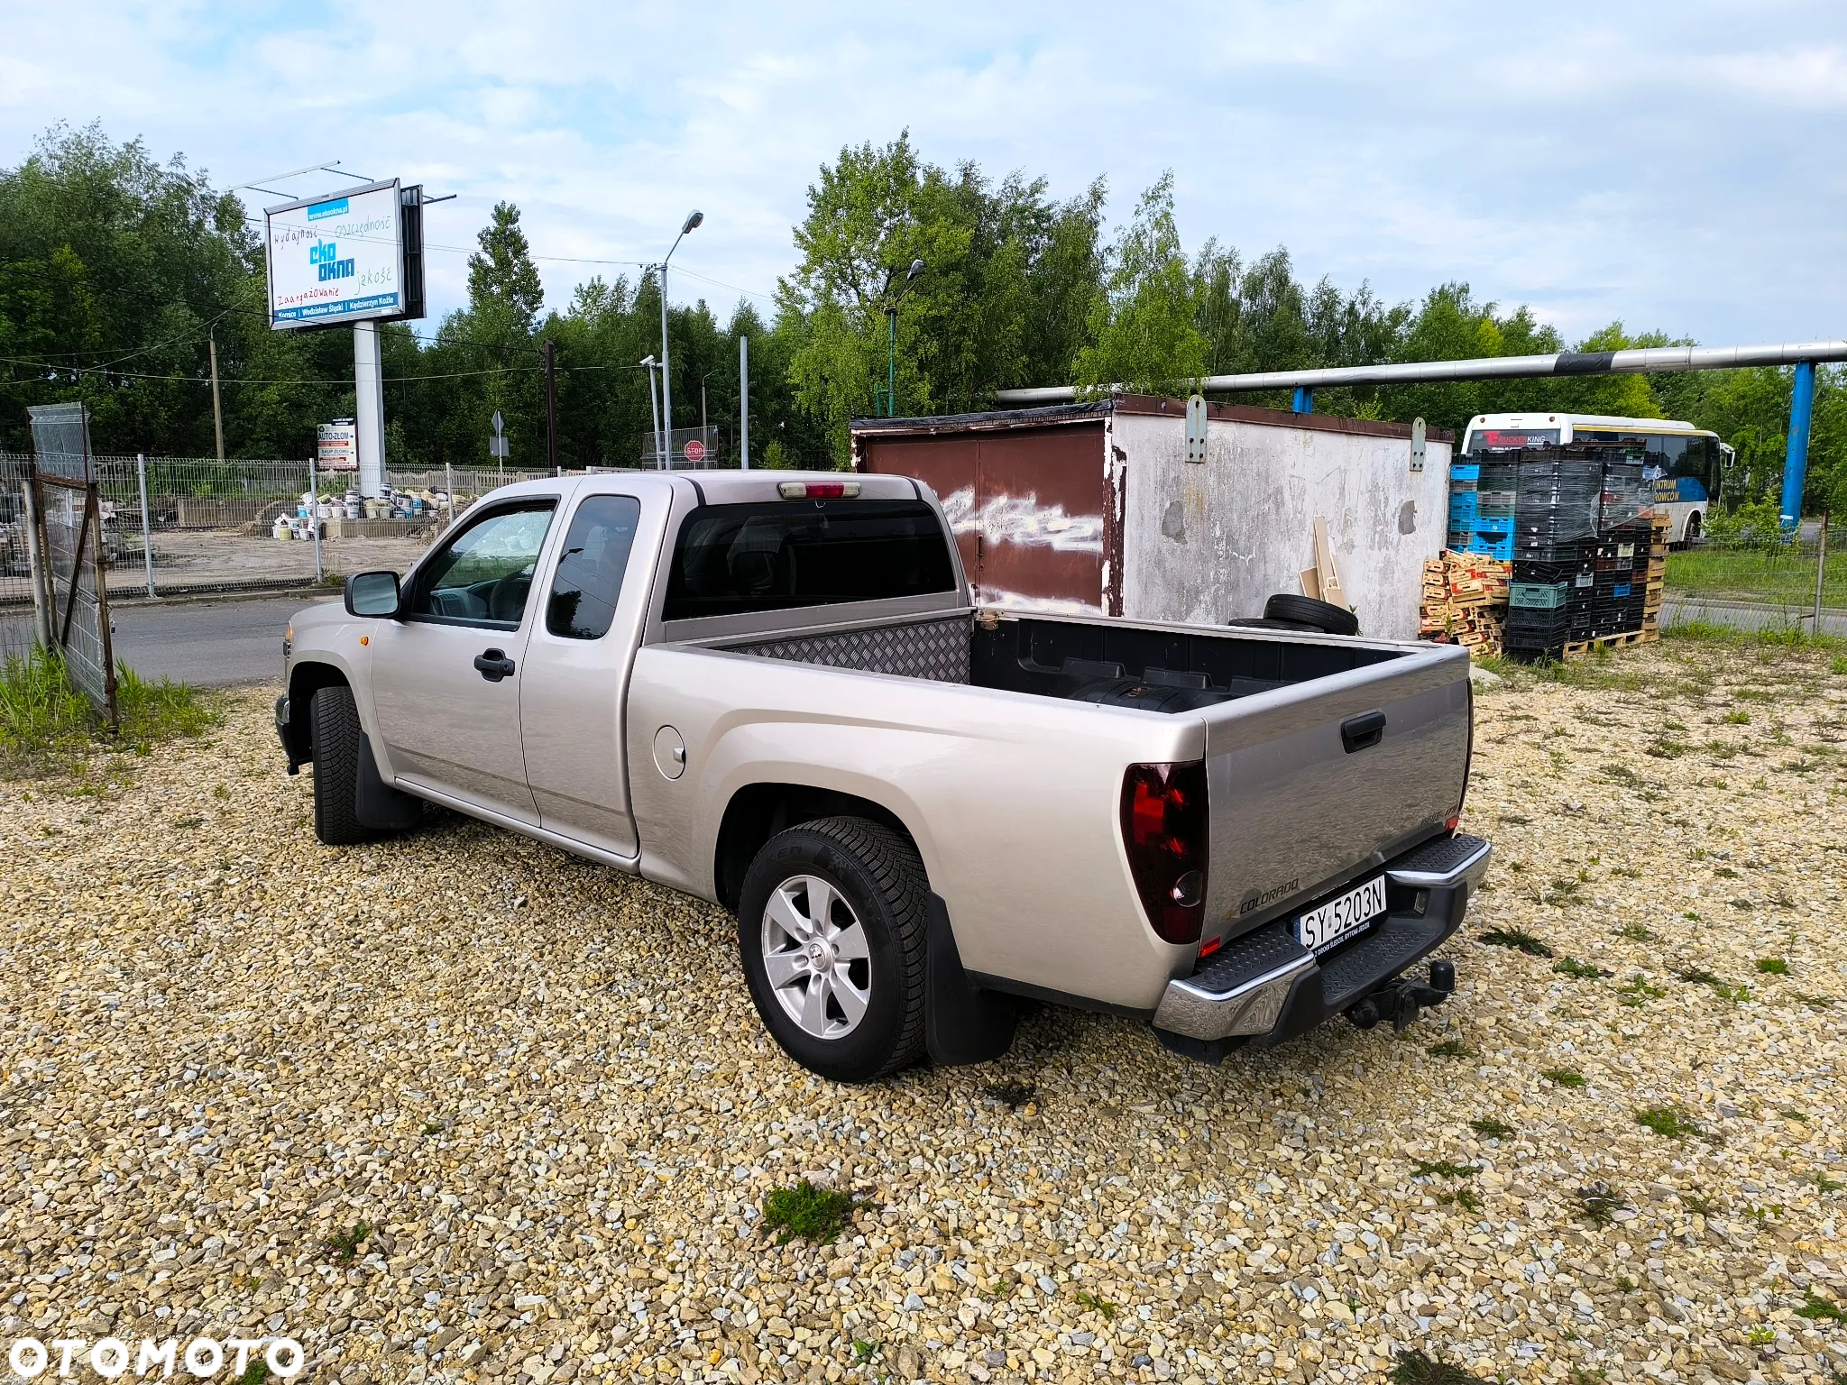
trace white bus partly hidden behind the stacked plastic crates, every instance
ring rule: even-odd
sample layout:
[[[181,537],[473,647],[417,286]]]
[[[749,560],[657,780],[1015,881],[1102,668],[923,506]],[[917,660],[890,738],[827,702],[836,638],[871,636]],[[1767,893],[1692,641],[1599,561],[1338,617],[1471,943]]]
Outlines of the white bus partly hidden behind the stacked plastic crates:
[[[1707,506],[1720,499],[1736,452],[1716,432],[1677,419],[1618,419],[1605,414],[1476,414],[1463,452],[1494,452],[1542,443],[1633,443],[1644,451],[1642,475],[1655,482],[1655,510],[1672,523],[1668,541],[1699,543]]]

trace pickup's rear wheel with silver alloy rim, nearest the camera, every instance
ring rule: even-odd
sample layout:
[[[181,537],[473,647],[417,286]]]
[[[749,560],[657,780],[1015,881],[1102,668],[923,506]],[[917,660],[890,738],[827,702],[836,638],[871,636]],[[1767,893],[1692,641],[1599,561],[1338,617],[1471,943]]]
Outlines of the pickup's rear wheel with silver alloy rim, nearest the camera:
[[[833,1082],[924,1056],[929,881],[916,848],[864,818],[772,837],[744,873],[737,945],[783,1051]]]

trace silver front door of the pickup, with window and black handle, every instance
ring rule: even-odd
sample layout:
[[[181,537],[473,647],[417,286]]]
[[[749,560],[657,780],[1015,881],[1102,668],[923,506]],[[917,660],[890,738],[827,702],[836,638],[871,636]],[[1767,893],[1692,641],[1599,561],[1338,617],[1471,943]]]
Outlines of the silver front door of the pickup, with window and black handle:
[[[519,685],[534,572],[556,497],[510,500],[469,519],[423,563],[403,619],[380,620],[371,689],[393,774],[537,824],[519,744]]]

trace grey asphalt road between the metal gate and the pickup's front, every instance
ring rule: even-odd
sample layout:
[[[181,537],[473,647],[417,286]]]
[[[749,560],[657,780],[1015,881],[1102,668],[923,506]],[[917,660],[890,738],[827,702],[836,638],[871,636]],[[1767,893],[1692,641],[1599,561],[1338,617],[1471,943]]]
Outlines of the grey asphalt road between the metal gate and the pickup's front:
[[[115,654],[150,680],[194,687],[281,681],[283,628],[312,600],[338,596],[113,606]]]

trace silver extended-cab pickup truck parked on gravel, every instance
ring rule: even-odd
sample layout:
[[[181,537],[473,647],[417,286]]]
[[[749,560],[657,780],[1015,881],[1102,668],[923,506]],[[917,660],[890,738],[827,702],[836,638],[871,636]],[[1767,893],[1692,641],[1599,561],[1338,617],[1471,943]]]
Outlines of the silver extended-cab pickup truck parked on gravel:
[[[284,661],[323,842],[436,803],[718,903],[839,1080],[996,1058],[1021,999],[1208,1062],[1404,1025],[1487,870],[1463,650],[977,609],[901,476],[508,486]]]

